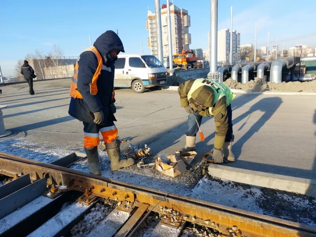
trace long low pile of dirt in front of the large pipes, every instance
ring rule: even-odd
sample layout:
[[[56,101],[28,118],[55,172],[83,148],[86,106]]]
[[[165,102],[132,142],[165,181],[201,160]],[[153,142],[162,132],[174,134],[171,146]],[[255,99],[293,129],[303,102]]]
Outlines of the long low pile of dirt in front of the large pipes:
[[[229,78],[224,81],[224,84],[230,88],[245,91],[316,92],[316,80],[274,83],[262,81],[261,78],[255,77],[254,80],[242,84]]]

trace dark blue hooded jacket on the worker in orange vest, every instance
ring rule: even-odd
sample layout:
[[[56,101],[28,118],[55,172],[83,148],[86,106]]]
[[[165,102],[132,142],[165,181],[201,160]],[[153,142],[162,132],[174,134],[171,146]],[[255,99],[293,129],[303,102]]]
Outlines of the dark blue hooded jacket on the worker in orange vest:
[[[80,121],[93,123],[95,119],[93,113],[102,110],[103,124],[106,125],[108,120],[116,121],[109,108],[111,103],[115,102],[112,101],[111,97],[114,89],[114,70],[117,57],[109,58],[109,52],[111,50],[125,51],[120,37],[114,31],[106,31],[100,35],[93,46],[101,54],[103,62],[101,74],[97,80],[98,93],[92,95],[89,87],[98,67],[98,59],[92,51],[85,51],[79,56],[77,80],[77,90],[83,99],[72,97],[68,113]]]

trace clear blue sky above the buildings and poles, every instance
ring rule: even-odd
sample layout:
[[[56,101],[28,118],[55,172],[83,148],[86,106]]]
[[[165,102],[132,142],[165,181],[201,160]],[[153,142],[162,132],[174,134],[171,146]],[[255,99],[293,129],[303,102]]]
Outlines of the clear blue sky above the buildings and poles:
[[[230,28],[233,6],[233,29],[241,34],[241,44],[255,41],[257,48],[266,46],[270,32],[270,49],[276,43],[282,50],[295,44],[316,47],[313,13],[316,1],[282,0],[219,0],[218,30]],[[161,0],[161,5],[166,1]],[[210,31],[209,0],[174,0],[179,8],[191,15],[191,48],[207,48]],[[147,48],[147,9],[154,12],[154,0],[94,0],[94,1],[20,1],[4,0],[0,13],[0,65],[4,76],[13,74],[18,59],[36,49],[50,51],[57,44],[65,56],[78,56],[89,47],[89,35],[94,42],[106,30],[119,30],[126,53],[144,53]],[[309,12],[309,13],[308,13]]]

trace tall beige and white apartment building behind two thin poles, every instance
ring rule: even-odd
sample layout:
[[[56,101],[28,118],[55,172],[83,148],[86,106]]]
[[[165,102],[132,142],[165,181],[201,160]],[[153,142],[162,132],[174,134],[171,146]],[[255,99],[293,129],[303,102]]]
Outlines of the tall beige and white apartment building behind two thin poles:
[[[170,3],[170,16],[171,16],[171,37],[172,37],[172,53],[181,53],[183,49],[190,49],[191,34],[189,27],[191,26],[191,17],[188,15],[188,10],[180,9],[174,4]],[[161,21],[162,21],[162,36],[163,36],[163,55],[169,55],[169,42],[168,42],[168,17],[167,5],[162,5],[161,8]],[[148,48],[150,53],[157,56],[157,39],[156,39],[156,20],[155,13],[148,10],[146,20],[147,30],[149,32]]]

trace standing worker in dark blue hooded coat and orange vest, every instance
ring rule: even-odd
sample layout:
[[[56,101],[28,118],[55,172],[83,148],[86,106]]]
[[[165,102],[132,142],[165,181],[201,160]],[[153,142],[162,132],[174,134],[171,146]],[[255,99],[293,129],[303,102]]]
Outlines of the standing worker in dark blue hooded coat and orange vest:
[[[99,132],[111,161],[111,170],[134,163],[133,159],[120,160],[120,141],[114,124],[117,121],[114,116],[114,70],[120,52],[125,52],[121,39],[114,31],[106,31],[93,47],[80,54],[72,77],[69,114],[83,122],[84,150],[90,173],[94,175],[101,175]]]

